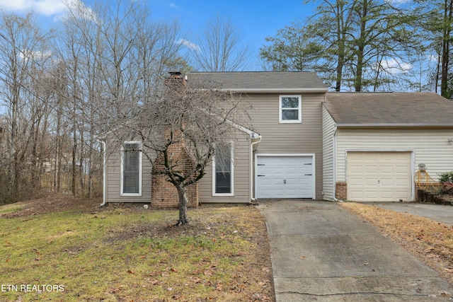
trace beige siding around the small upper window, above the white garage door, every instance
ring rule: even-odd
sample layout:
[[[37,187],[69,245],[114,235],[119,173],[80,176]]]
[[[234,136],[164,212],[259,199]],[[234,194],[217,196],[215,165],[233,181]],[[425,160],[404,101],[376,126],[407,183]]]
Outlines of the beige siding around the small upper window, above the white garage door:
[[[248,94],[253,106],[251,113],[253,129],[260,134],[257,154],[315,154],[316,196],[321,198],[323,178],[322,114],[321,102],[324,93],[302,93],[302,123],[279,122],[280,95],[299,93]]]

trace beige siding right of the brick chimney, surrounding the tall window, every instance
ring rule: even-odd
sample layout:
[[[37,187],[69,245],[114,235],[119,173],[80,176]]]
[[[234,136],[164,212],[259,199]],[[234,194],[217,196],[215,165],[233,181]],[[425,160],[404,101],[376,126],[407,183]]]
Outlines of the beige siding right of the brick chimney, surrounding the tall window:
[[[234,196],[212,196],[212,163],[199,182],[200,203],[250,202],[250,134],[236,130],[233,138],[234,147]]]

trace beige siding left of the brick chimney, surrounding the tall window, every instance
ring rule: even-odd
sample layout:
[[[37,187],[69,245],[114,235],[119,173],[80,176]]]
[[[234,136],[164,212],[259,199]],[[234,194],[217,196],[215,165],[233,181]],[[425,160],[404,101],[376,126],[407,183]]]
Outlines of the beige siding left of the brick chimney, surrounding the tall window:
[[[142,156],[142,196],[121,196],[121,144],[109,140],[105,152],[107,198],[105,202],[151,202],[151,162]]]

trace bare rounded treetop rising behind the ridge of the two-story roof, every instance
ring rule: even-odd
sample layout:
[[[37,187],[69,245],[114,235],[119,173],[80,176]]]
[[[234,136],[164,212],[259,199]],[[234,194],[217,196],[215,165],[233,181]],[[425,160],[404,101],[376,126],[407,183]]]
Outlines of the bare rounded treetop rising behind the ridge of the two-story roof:
[[[193,46],[194,64],[201,71],[243,71],[250,49],[230,19],[217,16],[207,23]]]

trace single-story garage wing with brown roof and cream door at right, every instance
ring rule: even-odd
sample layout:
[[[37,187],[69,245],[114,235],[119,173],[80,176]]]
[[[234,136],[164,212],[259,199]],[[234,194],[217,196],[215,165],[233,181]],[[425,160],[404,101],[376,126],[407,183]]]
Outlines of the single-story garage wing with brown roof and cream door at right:
[[[323,199],[415,200],[453,170],[452,115],[436,93],[327,93]]]

